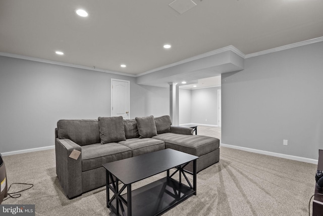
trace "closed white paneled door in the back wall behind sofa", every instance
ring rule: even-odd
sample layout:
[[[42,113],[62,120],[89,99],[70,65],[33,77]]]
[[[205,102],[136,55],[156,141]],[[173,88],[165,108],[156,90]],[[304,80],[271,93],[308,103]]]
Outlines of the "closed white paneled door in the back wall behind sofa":
[[[130,81],[111,79],[111,116],[130,118]]]

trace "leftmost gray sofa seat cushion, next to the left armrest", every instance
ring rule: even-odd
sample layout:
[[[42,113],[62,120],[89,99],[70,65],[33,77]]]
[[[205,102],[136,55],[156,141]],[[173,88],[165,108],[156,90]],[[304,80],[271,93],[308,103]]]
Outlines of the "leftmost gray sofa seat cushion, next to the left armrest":
[[[82,171],[94,169],[116,160],[131,157],[131,149],[118,144],[109,143],[101,145],[96,143],[82,146]]]

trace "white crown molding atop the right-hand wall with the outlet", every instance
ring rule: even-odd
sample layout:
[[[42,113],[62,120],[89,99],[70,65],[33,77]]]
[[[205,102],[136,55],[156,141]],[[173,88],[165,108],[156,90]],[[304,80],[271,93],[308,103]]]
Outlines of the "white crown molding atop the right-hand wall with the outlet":
[[[322,41],[323,41],[323,37],[317,37],[317,38],[313,38],[313,39],[309,39],[309,40],[304,40],[304,41],[296,42],[294,44],[285,45],[282,47],[264,50],[264,51],[260,51],[257,53],[251,53],[251,54],[245,55],[245,59],[251,58],[251,57],[256,57],[256,56],[261,56],[261,55],[265,55],[265,54],[269,54],[269,53],[275,53],[275,52],[279,52],[279,51],[283,51],[283,50],[288,50],[288,49],[292,49],[292,48],[296,48],[296,47],[301,47],[301,46],[305,46],[305,45],[315,44],[317,42],[322,42]]]

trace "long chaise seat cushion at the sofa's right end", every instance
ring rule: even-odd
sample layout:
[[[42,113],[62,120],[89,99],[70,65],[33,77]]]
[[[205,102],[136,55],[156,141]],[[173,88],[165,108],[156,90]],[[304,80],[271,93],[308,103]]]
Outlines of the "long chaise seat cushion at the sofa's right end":
[[[220,147],[219,139],[202,135],[193,136],[165,133],[152,138],[164,141],[166,148],[175,149],[196,156],[204,155]]]

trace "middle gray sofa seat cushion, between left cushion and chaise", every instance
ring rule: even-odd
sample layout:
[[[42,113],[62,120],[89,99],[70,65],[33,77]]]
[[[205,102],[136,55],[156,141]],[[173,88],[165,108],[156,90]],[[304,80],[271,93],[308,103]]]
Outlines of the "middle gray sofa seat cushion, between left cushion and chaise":
[[[133,138],[120,141],[119,144],[129,147],[132,150],[133,157],[165,149],[165,143],[163,141],[151,138]]]

